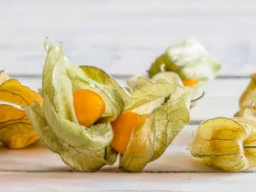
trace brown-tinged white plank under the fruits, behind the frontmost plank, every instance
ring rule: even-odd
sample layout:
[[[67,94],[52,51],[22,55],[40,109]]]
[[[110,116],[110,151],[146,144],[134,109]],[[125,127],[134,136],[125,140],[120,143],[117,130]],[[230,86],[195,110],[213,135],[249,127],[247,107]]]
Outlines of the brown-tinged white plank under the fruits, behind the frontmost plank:
[[[145,167],[143,172],[221,172],[205,166],[186,150],[193,141],[198,125],[187,125],[158,160]],[[69,172],[61,158],[42,145],[17,150],[0,148],[0,172]],[[119,172],[118,162],[104,166],[99,172]],[[253,171],[248,171],[253,172]],[[1,179],[0,179],[1,180]]]

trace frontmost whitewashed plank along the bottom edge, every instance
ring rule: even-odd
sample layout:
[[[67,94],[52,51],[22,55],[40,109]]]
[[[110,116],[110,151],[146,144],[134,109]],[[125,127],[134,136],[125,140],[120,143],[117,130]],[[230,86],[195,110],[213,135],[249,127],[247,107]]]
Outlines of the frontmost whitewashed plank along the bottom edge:
[[[1,172],[2,191],[254,192],[254,173]]]

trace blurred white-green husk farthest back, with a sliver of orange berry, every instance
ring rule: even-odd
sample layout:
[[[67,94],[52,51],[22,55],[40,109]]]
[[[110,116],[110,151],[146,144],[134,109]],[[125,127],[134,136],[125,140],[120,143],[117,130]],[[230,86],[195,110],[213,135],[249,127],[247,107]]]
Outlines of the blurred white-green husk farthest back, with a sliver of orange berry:
[[[192,104],[204,95],[203,86],[214,79],[220,70],[220,63],[195,39],[174,44],[163,55],[157,57],[148,69],[149,79],[162,72],[173,72],[182,79],[191,92]],[[196,84],[186,84],[188,81]]]

